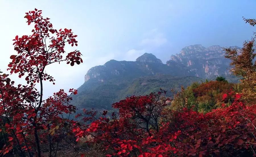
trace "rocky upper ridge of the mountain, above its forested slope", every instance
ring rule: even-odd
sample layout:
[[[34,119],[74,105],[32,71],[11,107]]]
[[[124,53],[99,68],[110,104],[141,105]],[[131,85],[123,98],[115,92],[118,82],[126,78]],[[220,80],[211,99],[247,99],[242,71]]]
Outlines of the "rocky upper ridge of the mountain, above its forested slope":
[[[189,45],[181,49],[180,53],[171,55],[170,60],[163,64],[152,53],[144,53],[136,61],[110,60],[104,65],[92,67],[84,76],[84,81],[86,82],[91,78],[98,78],[98,81],[104,81],[104,76],[105,79],[108,79],[111,76],[121,77],[125,73],[135,73],[133,70],[129,71],[126,66],[131,69],[141,69],[141,71],[137,71],[141,73],[141,76],[166,73],[175,76],[197,76],[204,79],[214,79],[217,76],[229,77],[231,74],[228,70],[230,60],[225,58],[224,55],[225,52],[219,45],[212,45],[207,48],[199,44]],[[172,68],[164,67],[163,69],[166,72],[159,69],[156,70],[152,67],[152,64],[156,65],[157,63],[163,64],[160,65],[162,67],[167,65]],[[159,67],[159,65],[156,67]],[[110,72],[110,74],[107,74],[106,71]],[[129,77],[136,78],[137,75],[129,75]]]

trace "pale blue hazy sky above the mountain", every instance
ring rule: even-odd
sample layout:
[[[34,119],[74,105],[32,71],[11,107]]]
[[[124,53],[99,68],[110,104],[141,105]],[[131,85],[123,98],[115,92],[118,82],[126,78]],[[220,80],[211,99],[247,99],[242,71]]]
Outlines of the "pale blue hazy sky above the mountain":
[[[24,15],[34,8],[42,10],[57,30],[71,28],[78,35],[76,49],[84,61],[46,68],[56,79],[55,85],[44,83],[46,98],[59,89],[80,87],[91,67],[111,59],[135,61],[152,53],[165,63],[189,45],[241,47],[256,30],[242,16],[256,18],[255,6],[255,0],[0,0],[0,70],[8,73],[9,56],[16,54],[12,39],[31,34],[33,26],[27,25]],[[10,78],[26,84],[16,74]]]

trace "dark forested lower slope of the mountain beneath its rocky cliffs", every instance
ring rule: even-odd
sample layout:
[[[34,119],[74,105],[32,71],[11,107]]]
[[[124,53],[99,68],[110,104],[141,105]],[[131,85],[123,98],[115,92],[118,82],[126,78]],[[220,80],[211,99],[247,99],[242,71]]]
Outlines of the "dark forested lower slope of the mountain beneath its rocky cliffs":
[[[179,80],[179,81],[177,81]],[[98,81],[90,79],[79,89],[78,94],[73,96],[73,102],[79,107],[94,109],[111,109],[114,102],[131,95],[146,95],[160,88],[180,90],[181,85],[185,87],[195,81],[201,81],[195,76],[174,77],[170,74],[147,76],[136,79]],[[167,93],[172,95],[171,92]]]

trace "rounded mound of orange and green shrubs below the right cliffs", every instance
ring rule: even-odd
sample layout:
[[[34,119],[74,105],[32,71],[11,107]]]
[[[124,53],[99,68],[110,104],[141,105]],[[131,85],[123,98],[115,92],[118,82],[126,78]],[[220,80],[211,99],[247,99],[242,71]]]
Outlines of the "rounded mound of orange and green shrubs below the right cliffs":
[[[201,113],[207,113],[213,109],[223,106],[223,95],[229,95],[225,100],[227,105],[232,104],[233,95],[240,93],[239,84],[227,81],[206,81],[201,84],[195,82],[186,89],[175,93],[172,102],[173,109],[189,108]]]

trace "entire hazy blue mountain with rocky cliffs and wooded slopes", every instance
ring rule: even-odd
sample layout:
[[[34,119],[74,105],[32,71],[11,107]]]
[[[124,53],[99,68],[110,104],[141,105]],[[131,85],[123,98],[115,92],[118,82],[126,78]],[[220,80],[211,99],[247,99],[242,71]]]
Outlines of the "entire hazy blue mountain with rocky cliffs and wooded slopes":
[[[79,108],[111,109],[111,104],[131,95],[146,95],[159,88],[179,90],[195,81],[224,76],[237,81],[229,70],[230,60],[221,47],[191,45],[184,47],[170,60],[162,61],[151,53],[144,53],[136,61],[110,60],[92,67],[84,76],[73,103]]]

